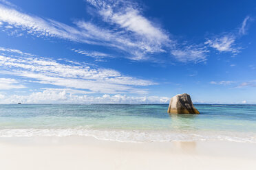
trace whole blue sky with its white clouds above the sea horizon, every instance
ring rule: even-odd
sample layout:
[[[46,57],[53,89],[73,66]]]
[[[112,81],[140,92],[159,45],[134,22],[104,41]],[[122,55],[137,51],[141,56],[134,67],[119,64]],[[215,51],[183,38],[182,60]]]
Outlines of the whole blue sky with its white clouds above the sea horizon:
[[[256,104],[256,1],[0,0],[0,103]]]

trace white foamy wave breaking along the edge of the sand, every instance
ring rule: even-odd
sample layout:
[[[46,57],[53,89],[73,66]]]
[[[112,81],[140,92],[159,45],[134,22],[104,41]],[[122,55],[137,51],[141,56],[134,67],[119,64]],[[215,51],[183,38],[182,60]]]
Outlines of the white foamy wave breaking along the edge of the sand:
[[[169,141],[235,141],[256,143],[256,134],[250,132],[170,132],[138,130],[92,130],[85,128],[69,129],[5,129],[0,137],[30,136],[92,136],[99,140],[118,142],[169,142]]]

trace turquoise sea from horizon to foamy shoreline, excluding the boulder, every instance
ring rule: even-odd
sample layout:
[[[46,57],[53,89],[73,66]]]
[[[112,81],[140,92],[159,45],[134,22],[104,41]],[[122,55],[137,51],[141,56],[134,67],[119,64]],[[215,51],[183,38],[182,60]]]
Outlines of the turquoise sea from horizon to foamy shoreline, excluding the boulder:
[[[167,104],[0,105],[0,137],[94,136],[120,142],[256,143],[256,105],[195,105],[200,114],[167,113]]]

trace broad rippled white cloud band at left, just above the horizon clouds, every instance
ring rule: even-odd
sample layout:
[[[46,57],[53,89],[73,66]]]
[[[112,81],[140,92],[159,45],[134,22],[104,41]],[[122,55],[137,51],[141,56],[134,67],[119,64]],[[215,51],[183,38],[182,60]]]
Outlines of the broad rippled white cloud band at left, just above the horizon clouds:
[[[0,56],[0,68],[6,75],[26,77],[40,84],[79,88],[92,93],[147,93],[147,90],[135,86],[156,84],[122,75],[112,69],[92,68],[86,64],[61,64],[50,58],[34,56]]]

